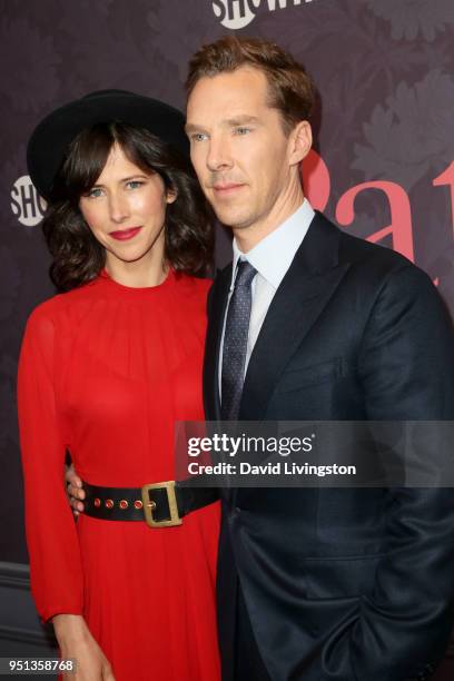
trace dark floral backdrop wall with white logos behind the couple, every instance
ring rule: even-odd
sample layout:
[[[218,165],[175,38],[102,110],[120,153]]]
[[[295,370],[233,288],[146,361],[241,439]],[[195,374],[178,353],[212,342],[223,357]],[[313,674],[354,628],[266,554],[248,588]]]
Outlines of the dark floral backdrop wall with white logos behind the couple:
[[[0,560],[27,563],[16,371],[31,309],[52,295],[27,175],[37,121],[121,88],[184,107],[191,53],[226,33],[273,39],[313,73],[316,208],[425,269],[454,313],[453,0],[16,0],[0,13]],[[219,229],[217,259],[229,260]]]

